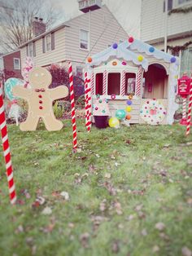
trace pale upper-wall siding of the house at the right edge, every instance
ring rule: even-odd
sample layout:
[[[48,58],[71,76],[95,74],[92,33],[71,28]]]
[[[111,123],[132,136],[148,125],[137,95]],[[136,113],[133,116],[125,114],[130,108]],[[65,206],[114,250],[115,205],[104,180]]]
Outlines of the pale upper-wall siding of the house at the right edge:
[[[178,6],[178,0],[173,0],[175,7],[191,7],[192,2],[187,5]],[[141,18],[141,40],[151,42],[157,38],[164,38],[164,0],[142,0],[142,18]],[[192,34],[192,15],[189,13],[174,13],[168,15],[168,37],[186,33]]]

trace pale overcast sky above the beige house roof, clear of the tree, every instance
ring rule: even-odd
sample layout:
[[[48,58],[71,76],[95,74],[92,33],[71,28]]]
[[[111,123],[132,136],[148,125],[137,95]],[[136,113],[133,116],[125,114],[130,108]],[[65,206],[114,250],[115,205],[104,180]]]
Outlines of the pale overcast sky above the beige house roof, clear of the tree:
[[[70,18],[81,14],[81,11],[78,11],[77,0],[50,1],[53,2],[55,8],[63,10],[63,17],[61,17],[59,22],[69,20]],[[116,16],[116,19],[127,33],[133,35],[135,38],[139,38],[141,2],[142,0],[103,0],[103,3],[105,3],[110,11]]]

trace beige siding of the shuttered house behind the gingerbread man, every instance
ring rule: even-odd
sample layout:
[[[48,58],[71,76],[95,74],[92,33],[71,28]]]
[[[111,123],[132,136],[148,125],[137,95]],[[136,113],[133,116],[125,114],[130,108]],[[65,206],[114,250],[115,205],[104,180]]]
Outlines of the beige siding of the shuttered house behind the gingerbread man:
[[[103,51],[109,44],[128,38],[114,15],[106,6],[91,11],[91,55]],[[85,63],[89,51],[80,48],[80,29],[89,31],[89,13],[82,14],[65,23],[67,27],[55,32],[55,50],[43,53],[42,38],[36,41],[36,66],[47,66],[71,60],[74,64]],[[21,61],[26,57],[26,46],[21,48]]]

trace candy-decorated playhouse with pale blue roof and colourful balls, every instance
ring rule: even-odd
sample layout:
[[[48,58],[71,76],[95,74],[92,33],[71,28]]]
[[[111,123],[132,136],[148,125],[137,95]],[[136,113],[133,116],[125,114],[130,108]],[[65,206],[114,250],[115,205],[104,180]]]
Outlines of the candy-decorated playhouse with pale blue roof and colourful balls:
[[[172,124],[178,64],[177,57],[132,37],[114,43],[87,59],[89,105],[99,97],[108,100],[111,117],[127,109],[130,123]]]

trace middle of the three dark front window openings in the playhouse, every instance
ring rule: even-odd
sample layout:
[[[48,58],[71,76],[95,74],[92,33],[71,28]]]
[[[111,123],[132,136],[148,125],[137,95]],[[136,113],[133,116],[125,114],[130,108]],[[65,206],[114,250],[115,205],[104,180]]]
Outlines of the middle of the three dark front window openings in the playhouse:
[[[120,73],[108,74],[108,95],[120,95]]]

